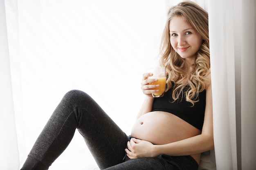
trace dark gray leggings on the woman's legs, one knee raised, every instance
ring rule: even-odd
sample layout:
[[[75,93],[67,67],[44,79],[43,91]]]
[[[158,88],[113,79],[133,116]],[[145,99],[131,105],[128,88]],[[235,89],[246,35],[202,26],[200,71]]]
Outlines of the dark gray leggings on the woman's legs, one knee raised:
[[[21,170],[47,170],[67,148],[78,131],[100,169],[106,170],[197,170],[190,156],[124,159],[130,140],[101,107],[86,93],[65,94],[40,133]]]

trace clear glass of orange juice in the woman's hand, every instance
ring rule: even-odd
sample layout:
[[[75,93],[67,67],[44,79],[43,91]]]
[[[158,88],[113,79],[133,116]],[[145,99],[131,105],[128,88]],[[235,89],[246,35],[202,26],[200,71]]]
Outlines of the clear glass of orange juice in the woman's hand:
[[[154,88],[154,90],[159,89],[158,92],[152,93],[153,97],[162,97],[164,96],[164,90],[166,86],[166,73],[165,67],[158,68],[147,68],[147,73],[153,73],[153,76],[148,77],[148,79],[158,79],[157,82],[153,82],[151,84],[159,84],[158,88]]]

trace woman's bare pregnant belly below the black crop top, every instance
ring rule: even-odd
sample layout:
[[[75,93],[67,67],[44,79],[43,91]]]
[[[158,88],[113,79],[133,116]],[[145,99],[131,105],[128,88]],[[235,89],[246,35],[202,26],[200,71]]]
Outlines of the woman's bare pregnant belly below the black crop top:
[[[162,111],[146,113],[132,127],[131,136],[152,144],[168,144],[199,135],[201,131],[179,117]],[[191,155],[198,163],[200,154]]]

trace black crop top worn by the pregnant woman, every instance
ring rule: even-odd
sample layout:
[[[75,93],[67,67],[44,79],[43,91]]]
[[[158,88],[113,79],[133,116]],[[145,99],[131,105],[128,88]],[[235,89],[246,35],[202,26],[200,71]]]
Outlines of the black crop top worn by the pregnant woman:
[[[190,102],[186,101],[186,96],[180,97],[173,102],[173,86],[164,93],[163,97],[154,98],[152,111],[164,111],[180,117],[195,128],[202,130],[204,123],[204,110],[206,91],[199,93],[199,101],[193,107]],[[180,100],[182,98],[182,100]]]

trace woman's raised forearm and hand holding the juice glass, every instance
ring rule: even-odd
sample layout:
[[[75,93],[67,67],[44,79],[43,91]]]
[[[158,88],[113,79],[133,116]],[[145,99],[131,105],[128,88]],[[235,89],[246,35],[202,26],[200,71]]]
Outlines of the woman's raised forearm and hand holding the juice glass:
[[[152,104],[154,101],[154,98],[152,96],[152,93],[155,93],[159,90],[154,90],[153,88],[159,87],[159,84],[150,84],[153,82],[157,82],[157,79],[148,79],[148,77],[152,76],[152,73],[144,73],[142,82],[141,82],[141,90],[146,95],[144,102],[139,110],[139,113],[137,115],[137,119],[141,117],[142,115],[151,112],[152,110]]]

